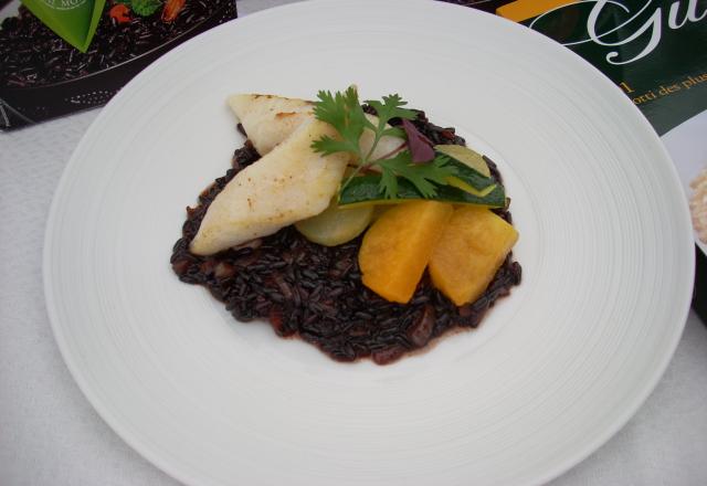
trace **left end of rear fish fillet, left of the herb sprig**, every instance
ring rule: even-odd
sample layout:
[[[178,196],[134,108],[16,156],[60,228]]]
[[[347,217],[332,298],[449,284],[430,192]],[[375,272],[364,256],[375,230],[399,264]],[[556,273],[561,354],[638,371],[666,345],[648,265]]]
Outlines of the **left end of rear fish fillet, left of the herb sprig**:
[[[314,118],[314,104],[305,99],[244,94],[230,96],[229,106],[261,156]]]

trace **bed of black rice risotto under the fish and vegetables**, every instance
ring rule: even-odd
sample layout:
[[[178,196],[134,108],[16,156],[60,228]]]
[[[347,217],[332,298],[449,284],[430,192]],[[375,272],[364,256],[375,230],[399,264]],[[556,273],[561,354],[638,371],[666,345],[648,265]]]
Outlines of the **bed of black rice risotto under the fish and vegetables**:
[[[453,128],[429,123],[422,112],[415,126],[434,144],[464,145]],[[309,242],[294,226],[215,255],[191,254],[189,243],[211,201],[258,158],[250,141],[235,150],[233,168],[199,196],[196,208],[187,208],[182,237],[171,256],[180,281],[207,287],[240,321],[265,319],[278,336],[299,337],[338,361],[370,357],[386,364],[452,329],[477,327],[488,308],[520,283],[520,265],[510,253],[472,304],[455,306],[432,286],[426,272],[409,304],[390,303],[361,283],[362,236],[326,247]],[[487,162],[492,176],[502,182],[495,163]],[[507,210],[496,213],[511,222]]]

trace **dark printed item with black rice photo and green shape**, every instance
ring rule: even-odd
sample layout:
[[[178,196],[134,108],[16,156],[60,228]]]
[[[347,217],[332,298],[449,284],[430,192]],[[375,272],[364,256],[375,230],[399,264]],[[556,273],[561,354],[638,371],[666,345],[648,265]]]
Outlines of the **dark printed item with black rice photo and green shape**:
[[[103,106],[160,55],[238,15],[235,0],[64,3],[0,1],[0,129]]]

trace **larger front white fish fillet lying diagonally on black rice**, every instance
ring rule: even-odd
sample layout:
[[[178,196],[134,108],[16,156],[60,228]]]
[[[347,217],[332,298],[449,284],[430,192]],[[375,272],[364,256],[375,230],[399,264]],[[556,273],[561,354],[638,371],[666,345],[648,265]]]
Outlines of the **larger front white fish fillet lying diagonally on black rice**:
[[[211,255],[324,211],[349,162],[346,154],[323,157],[312,150],[325,135],[337,136],[330,125],[312,118],[240,171],[207,210],[191,252]]]

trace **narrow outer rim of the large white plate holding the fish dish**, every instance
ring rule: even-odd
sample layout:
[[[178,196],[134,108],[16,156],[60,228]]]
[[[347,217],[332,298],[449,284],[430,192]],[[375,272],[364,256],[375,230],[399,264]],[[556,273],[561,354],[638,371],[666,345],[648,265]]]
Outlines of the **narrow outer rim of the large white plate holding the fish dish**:
[[[378,2],[386,1],[389,3],[416,2],[420,4],[436,4],[437,8],[464,9],[471,14],[486,15],[488,18],[494,18],[495,19],[494,22],[499,22],[499,23],[508,22],[509,24],[508,28],[515,29],[519,32],[520,31],[526,32],[524,35],[528,35],[528,34],[534,35],[536,36],[536,39],[540,40],[540,42],[544,42],[547,45],[552,45],[552,47],[550,49],[553,49],[557,52],[570,53],[561,45],[557,44],[556,42],[551,41],[550,39],[546,38],[545,35],[538,32],[528,30],[523,25],[516,24],[514,22],[503,20],[492,13],[478,11],[464,6],[444,3],[435,0],[365,0],[365,1],[368,1],[369,3],[372,3],[373,1],[378,1]],[[148,67],[146,67],[137,76],[135,76],[130,82],[128,82],[124,86],[124,88],[120,89],[118,94],[104,108],[101,109],[101,113],[98,114],[98,116],[92,122],[91,126],[88,127],[86,133],[82,136],[75,149],[72,151],[68,162],[66,163],[66,166],[62,171],[61,178],[59,180],[59,183],[56,184],[56,189],[54,190],[54,194],[52,197],[52,202],[50,205],[50,211],[48,213],[45,232],[44,232],[44,244],[43,244],[43,251],[42,251],[42,268],[43,268],[42,278],[43,278],[44,302],[45,302],[49,320],[52,328],[52,334],[54,335],[54,339],[56,340],[63,361],[66,364],[72,378],[78,385],[78,389],[81,390],[83,395],[91,403],[93,409],[97,412],[98,416],[113,430],[113,432],[115,432],[126,444],[128,444],[134,451],[136,451],[139,455],[141,455],[144,458],[146,458],[148,462],[150,462],[161,472],[186,484],[200,484],[202,478],[193,477],[188,473],[187,469],[182,471],[180,467],[178,467],[176,462],[167,461],[166,458],[163,458],[163,456],[160,456],[152,448],[150,448],[150,446],[144,440],[141,440],[138,435],[130,433],[130,431],[127,430],[127,427],[124,427],[119,419],[115,416],[115,414],[109,410],[109,408],[104,406],[104,403],[102,402],[101,399],[98,399],[96,392],[88,384],[87,379],[84,376],[84,372],[81,371],[80,367],[76,364],[76,362],[72,357],[72,353],[68,350],[68,344],[66,341],[65,335],[63,334],[62,325],[60,323],[60,317],[59,317],[60,313],[57,310],[57,304],[55,300],[56,290],[54,289],[53,281],[52,281],[53,271],[52,271],[51,250],[52,250],[52,242],[54,241],[55,233],[56,233],[56,230],[55,230],[56,214],[60,210],[61,199],[63,194],[66,192],[66,186],[68,184],[68,181],[70,181],[70,172],[74,168],[74,166],[78,163],[78,160],[80,160],[78,155],[84,149],[84,146],[92,138],[93,134],[101,127],[101,125],[104,123],[104,119],[109,118],[110,112],[113,109],[116,109],[115,106],[118,106],[122,103],[123,98],[129,95],[129,92],[131,91],[133,86],[140,83],[144,77],[151,75],[152,72],[158,71],[161,64],[169,62],[173,57],[180,56],[181,52],[188,49],[190,45],[208,42],[209,38],[215,35],[217,32],[220,32],[221,30],[233,29],[234,25],[239,25],[243,22],[249,22],[249,23],[260,22],[261,18],[265,18],[273,14],[278,15],[281,14],[281,12],[283,12],[282,14],[284,14],[284,12],[287,10],[310,9],[317,6],[321,6],[321,7],[326,6],[326,8],[328,8],[333,3],[354,4],[354,3],[362,3],[362,2],[359,0],[304,0],[304,1],[297,1],[294,3],[287,3],[284,6],[261,10],[257,12],[250,13],[246,17],[238,18],[229,22],[225,22],[221,25],[218,25],[213,29],[210,29],[209,31],[200,35],[197,35],[196,38],[192,38],[191,40],[176,46],[165,55],[160,56],[157,61],[151,63]],[[579,62],[579,64],[584,65],[585,70],[589,68],[590,71],[594,72],[594,74],[599,74],[597,81],[598,82],[601,81],[601,83],[603,83],[604,86],[606,86],[606,88],[620,91],[618,86],[615,86],[600,70],[598,70],[591,63],[587,62],[584,59],[582,59],[579,55],[574,55],[574,57]],[[648,123],[645,116],[643,116],[640,109],[629,101],[629,98],[622,95],[621,99],[622,101],[620,103],[623,103],[626,107],[632,109],[634,114],[639,115],[636,122],[640,123],[643,126],[643,128],[646,129],[646,131],[651,133],[651,136],[654,139],[654,141],[657,141],[657,146],[659,147],[659,151],[661,151],[661,158],[669,162],[668,170],[671,171],[672,178],[673,178],[673,181],[671,181],[671,183],[674,184],[675,187],[679,187],[679,177],[678,177],[675,163],[671,155],[668,154],[667,149],[665,148],[664,144],[662,142],[661,138],[658,137],[657,133],[653,128],[653,126]],[[682,201],[683,201],[682,205],[684,209],[682,211],[683,213],[682,218],[689,221],[687,202],[684,200],[684,198],[682,199]],[[692,223],[688,224],[688,226],[692,230]],[[689,255],[687,257],[687,263],[689,266],[689,275],[694,275],[695,254],[692,251],[692,247],[694,246],[692,231],[689,232],[689,237],[686,239],[685,236],[683,236],[683,240],[684,240],[684,243],[689,243],[688,246],[690,247],[690,251],[687,252],[687,254]],[[694,282],[689,284],[689,288],[693,289],[693,287],[694,287]],[[616,416],[613,419],[611,426],[608,426],[604,431],[602,431],[602,433],[598,434],[593,441],[584,442],[583,446],[578,447],[578,450],[573,454],[571,454],[566,461],[558,463],[555,467],[549,467],[545,474],[538,475],[537,477],[535,477],[530,482],[530,484],[544,484],[549,480],[558,478],[563,473],[567,473],[572,467],[577,466],[582,461],[588,458],[591,454],[597,452],[603,444],[605,444],[611,437],[613,437],[623,426],[625,426],[625,424],[635,415],[639,409],[645,403],[645,401],[648,399],[651,393],[655,390],[657,383],[659,382],[662,377],[665,374],[665,371],[669,362],[672,361],[673,356],[675,355],[675,350],[682,338],[685,324],[687,321],[687,317],[689,314],[692,292],[686,293],[685,296],[683,296],[683,300],[684,302],[682,303],[680,306],[678,305],[675,306],[676,309],[678,308],[680,309],[679,313],[677,311],[675,313],[675,314],[679,314],[680,318],[679,318],[679,321],[673,328],[673,332],[671,335],[671,341],[665,348],[667,352],[665,352],[662,359],[659,360],[659,363],[656,368],[657,372],[651,376],[650,379],[646,379],[646,381],[643,383],[641,388],[641,391],[632,398],[630,405],[625,406],[622,410],[622,412],[616,414]]]

